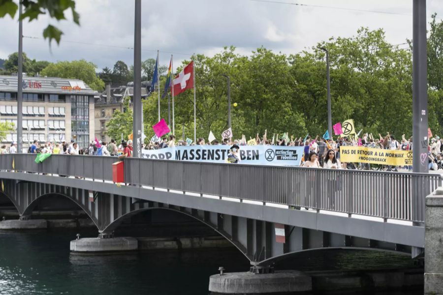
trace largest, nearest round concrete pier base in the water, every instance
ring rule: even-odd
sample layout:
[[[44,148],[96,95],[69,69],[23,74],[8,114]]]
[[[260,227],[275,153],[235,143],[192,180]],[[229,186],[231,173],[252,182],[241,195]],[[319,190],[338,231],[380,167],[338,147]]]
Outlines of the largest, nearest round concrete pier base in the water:
[[[269,274],[232,272],[210,276],[209,291],[224,294],[307,292],[312,291],[312,281],[310,276],[295,270]]]

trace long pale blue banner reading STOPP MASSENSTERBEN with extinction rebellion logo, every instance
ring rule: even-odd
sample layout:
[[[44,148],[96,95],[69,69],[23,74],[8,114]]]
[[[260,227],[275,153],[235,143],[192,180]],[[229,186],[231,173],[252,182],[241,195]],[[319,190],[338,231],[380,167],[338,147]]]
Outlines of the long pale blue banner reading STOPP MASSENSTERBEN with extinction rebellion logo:
[[[181,146],[143,149],[142,157],[149,159],[226,163],[230,146]],[[240,163],[270,166],[299,166],[303,147],[241,146]]]

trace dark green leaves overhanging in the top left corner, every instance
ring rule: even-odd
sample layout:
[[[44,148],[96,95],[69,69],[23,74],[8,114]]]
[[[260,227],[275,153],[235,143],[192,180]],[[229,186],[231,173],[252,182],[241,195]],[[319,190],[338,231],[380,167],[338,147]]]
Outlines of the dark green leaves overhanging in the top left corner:
[[[75,10],[74,0],[23,0],[22,3],[24,6],[24,13],[20,17],[22,20],[29,18],[29,21],[31,22],[32,20],[37,19],[40,14],[47,14],[50,18],[61,21],[66,19],[64,11],[70,9],[72,12],[72,21],[77,25],[80,25],[80,16]],[[17,10],[18,5],[14,0],[0,0],[0,18],[9,14],[13,19]],[[56,40],[57,44],[60,44],[62,35],[63,31],[53,25],[48,25],[46,29],[43,30],[43,37],[49,39],[49,45],[51,45],[53,39]]]

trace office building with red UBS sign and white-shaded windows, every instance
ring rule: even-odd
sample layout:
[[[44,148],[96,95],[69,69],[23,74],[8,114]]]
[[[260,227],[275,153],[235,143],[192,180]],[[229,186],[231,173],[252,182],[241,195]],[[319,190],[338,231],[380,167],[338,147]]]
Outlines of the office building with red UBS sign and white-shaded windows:
[[[94,95],[81,80],[23,77],[23,108],[17,110],[17,76],[0,76],[0,121],[14,124],[3,144],[17,141],[17,113],[23,114],[23,147],[74,139],[88,147],[94,138]]]

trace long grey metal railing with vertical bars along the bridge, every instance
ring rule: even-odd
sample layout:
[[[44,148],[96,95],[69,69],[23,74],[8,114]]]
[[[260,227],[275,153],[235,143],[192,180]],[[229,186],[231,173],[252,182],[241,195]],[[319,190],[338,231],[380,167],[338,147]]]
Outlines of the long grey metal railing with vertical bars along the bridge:
[[[0,170],[112,181],[115,157],[0,155]],[[266,203],[424,222],[424,200],[440,175],[126,158],[125,182]],[[14,167],[13,167],[14,164]]]

